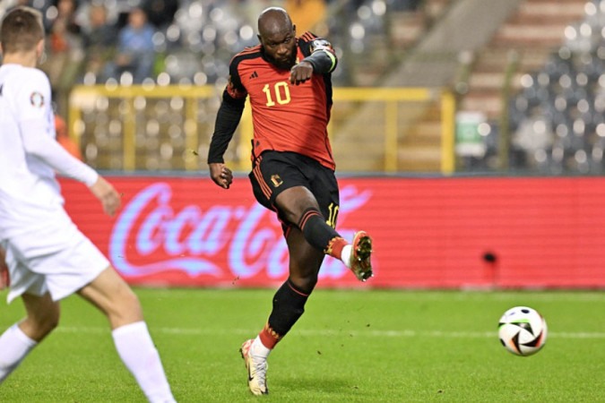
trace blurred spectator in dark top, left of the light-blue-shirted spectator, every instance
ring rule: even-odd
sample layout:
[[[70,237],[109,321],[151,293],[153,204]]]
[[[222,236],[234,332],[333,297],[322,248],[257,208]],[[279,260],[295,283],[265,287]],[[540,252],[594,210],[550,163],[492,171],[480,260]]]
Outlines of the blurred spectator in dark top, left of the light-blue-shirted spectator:
[[[83,31],[82,43],[86,49],[84,75],[91,73],[94,81],[112,59],[117,41],[116,27],[108,23],[108,11],[104,4],[91,4],[89,26]],[[88,81],[85,81],[88,82]]]

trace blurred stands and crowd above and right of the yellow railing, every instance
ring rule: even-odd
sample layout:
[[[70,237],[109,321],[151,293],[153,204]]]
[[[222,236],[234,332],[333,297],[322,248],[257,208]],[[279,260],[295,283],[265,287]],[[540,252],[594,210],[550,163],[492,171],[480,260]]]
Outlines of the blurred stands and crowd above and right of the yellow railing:
[[[18,4],[44,15],[48,49],[41,68],[58,116],[68,115],[77,85],[222,88],[230,58],[257,43],[258,14],[279,5],[298,34],[312,30],[333,42],[341,57],[336,86],[451,90],[456,170],[600,175],[605,169],[602,0],[3,0],[0,15]],[[363,115],[358,107],[355,116]],[[399,135],[397,171],[439,171],[443,133],[435,115],[425,107]],[[371,159],[372,139],[364,143],[364,135],[349,133]],[[78,147],[83,158],[104,167],[95,161],[99,147],[86,147]]]

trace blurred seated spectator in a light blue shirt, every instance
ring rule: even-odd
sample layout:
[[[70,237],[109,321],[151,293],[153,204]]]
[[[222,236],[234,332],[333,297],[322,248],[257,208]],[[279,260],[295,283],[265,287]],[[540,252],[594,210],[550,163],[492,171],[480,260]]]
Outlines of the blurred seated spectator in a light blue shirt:
[[[129,72],[134,83],[151,77],[156,56],[153,46],[155,32],[143,9],[133,8],[128,14],[128,23],[118,33],[117,53],[107,64],[106,77],[119,81],[122,73]]]

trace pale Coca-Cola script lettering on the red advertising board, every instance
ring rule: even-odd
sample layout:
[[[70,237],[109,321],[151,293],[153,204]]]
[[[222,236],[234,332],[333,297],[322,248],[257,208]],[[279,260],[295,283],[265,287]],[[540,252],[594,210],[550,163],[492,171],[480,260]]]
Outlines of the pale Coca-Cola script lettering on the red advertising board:
[[[339,222],[370,198],[354,185],[341,189]],[[181,270],[189,276],[281,278],[288,271],[288,247],[275,214],[256,202],[174,206],[168,183],[145,187],[125,204],[109,239],[109,258],[128,277]],[[229,203],[229,204],[227,204]],[[204,205],[205,204],[205,205]],[[355,229],[339,226],[351,239]],[[320,277],[340,278],[348,270],[327,258]]]

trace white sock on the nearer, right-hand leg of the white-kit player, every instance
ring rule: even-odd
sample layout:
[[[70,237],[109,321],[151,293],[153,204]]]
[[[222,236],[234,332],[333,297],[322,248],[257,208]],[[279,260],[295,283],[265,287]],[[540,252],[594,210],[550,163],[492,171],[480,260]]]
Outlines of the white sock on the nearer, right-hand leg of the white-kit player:
[[[166,379],[160,354],[145,322],[134,322],[120,326],[111,332],[117,354],[150,402],[175,402]]]

